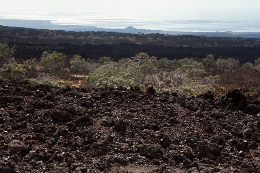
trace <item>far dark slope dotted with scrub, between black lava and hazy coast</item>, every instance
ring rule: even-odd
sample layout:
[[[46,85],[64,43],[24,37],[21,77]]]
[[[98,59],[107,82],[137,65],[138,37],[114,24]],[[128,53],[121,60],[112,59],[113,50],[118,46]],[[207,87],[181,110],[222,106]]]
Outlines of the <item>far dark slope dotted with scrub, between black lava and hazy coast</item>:
[[[73,32],[52,30],[3,30],[0,39],[8,38],[12,42],[21,43],[51,43],[68,42],[76,45],[83,44],[117,44],[120,42],[141,45],[164,45],[176,47],[260,47],[259,39],[235,37],[208,37],[205,35],[169,35],[169,34],[130,34],[116,32]]]

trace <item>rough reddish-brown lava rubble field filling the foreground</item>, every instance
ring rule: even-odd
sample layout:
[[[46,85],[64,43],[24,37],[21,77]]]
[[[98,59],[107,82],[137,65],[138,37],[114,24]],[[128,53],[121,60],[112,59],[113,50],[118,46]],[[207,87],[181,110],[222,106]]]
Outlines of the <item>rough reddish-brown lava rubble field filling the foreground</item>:
[[[2,82],[0,173],[260,172],[257,97]]]

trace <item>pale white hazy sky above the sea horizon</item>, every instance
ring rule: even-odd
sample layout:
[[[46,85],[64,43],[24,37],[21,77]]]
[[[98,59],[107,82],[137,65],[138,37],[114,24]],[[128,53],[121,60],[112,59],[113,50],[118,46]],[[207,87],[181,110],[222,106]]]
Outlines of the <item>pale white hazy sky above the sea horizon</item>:
[[[1,0],[0,10],[37,10],[62,12],[174,12],[196,13],[201,10],[208,13],[241,12],[257,13],[260,0]],[[1,13],[1,12],[0,12]]]

